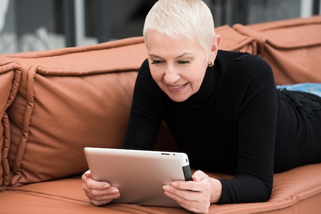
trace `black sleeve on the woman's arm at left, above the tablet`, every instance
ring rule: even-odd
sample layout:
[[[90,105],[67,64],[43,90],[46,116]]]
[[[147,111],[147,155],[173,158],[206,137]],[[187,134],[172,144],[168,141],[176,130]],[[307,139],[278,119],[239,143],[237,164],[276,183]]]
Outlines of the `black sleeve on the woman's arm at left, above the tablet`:
[[[162,116],[157,108],[158,86],[153,80],[148,60],[138,71],[124,148],[153,150]]]

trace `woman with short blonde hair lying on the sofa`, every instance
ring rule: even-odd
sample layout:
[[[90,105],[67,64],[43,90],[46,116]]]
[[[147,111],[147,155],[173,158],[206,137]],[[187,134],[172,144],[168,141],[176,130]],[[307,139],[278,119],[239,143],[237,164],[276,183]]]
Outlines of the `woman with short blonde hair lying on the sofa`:
[[[267,201],[273,173],[321,162],[321,98],[277,90],[268,63],[218,50],[213,29],[200,0],[159,0],[152,7],[143,30],[148,58],[138,72],[124,142],[125,148],[153,149],[165,120],[191,167],[200,169],[193,181],[164,185],[165,195],[198,213],[211,203]],[[83,180],[95,205],[121,197],[89,171]]]

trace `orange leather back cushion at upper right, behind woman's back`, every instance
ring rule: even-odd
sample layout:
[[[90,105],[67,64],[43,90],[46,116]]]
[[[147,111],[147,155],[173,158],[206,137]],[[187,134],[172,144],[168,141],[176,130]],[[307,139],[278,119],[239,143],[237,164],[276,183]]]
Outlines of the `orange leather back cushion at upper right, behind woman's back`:
[[[257,55],[271,65],[276,84],[321,82],[321,15],[233,29],[257,41]]]

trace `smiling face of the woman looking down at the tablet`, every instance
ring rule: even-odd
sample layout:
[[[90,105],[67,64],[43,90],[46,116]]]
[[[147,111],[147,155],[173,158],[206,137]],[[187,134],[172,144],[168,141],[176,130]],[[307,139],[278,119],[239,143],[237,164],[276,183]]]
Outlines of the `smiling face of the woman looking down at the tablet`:
[[[196,40],[150,31],[146,47],[151,75],[173,101],[182,102],[199,90],[209,58]]]

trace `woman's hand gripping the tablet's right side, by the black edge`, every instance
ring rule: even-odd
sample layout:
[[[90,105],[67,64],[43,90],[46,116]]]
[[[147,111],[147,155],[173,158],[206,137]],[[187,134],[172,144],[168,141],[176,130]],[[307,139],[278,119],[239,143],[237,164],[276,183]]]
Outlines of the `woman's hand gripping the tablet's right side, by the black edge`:
[[[164,185],[165,195],[189,211],[206,213],[211,203],[222,198],[222,184],[200,170],[192,178],[193,181],[173,181],[171,185]]]

